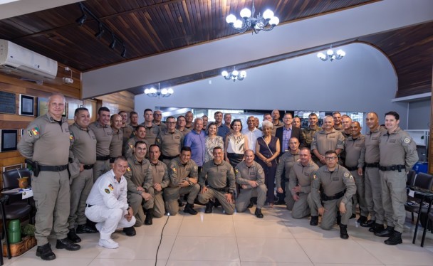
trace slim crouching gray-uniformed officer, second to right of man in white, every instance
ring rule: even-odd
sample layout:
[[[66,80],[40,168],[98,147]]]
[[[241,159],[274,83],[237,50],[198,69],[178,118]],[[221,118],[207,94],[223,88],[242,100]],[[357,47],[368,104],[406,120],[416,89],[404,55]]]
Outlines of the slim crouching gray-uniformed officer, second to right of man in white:
[[[167,188],[169,183],[167,165],[159,160],[160,154],[160,147],[157,144],[150,145],[149,167],[150,171],[152,171],[152,189],[150,189],[150,195],[153,197],[153,216],[156,218],[160,218],[165,214],[162,190]]]

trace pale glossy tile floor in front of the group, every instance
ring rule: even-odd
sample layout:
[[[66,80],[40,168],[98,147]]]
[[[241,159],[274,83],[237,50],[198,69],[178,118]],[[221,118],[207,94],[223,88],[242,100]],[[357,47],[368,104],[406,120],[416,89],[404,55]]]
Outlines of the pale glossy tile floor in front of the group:
[[[196,206],[197,209],[200,206]],[[340,239],[338,227],[325,231],[309,225],[308,218],[295,220],[283,206],[264,209],[264,219],[251,213],[227,216],[221,208],[197,216],[170,216],[165,227],[157,265],[433,265],[433,234],[427,233],[424,248],[412,244],[413,226],[407,218],[403,244],[388,246],[350,220],[348,240]],[[151,226],[137,229],[135,237],[121,231],[113,234],[120,248],[108,250],[98,246],[98,234],[80,235],[81,249],[75,252],[53,251],[57,259],[46,262],[36,257],[36,248],[6,265],[155,265],[157,246],[167,216],[154,219]],[[55,246],[55,240],[51,244]]]

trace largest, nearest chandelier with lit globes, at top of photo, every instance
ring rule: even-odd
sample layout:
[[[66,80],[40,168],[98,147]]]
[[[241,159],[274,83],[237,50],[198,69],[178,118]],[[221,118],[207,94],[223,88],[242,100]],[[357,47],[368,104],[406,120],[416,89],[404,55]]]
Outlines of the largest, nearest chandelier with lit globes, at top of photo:
[[[237,19],[236,16],[230,14],[226,17],[226,22],[229,23],[231,28],[234,28],[239,33],[244,33],[245,31],[252,30],[254,33],[259,33],[259,31],[271,31],[273,27],[277,26],[280,22],[280,19],[276,16],[273,16],[273,11],[270,9],[266,9],[264,11],[263,16],[259,13],[257,17],[254,17],[256,9],[254,9],[254,0],[253,0],[253,8],[251,10],[244,8],[241,10],[241,19]]]

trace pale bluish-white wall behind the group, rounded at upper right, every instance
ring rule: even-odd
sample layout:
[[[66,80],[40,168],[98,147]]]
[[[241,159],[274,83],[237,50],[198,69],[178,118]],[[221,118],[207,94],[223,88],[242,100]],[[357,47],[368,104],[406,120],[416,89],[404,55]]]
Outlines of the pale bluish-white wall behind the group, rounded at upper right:
[[[393,103],[397,80],[390,61],[363,43],[342,46],[345,58],[323,62],[315,53],[247,70],[245,80],[221,76],[173,87],[168,98],[135,97],[135,110],[145,108],[207,107],[214,109],[280,109],[342,112],[375,111],[400,114],[407,128],[407,103]],[[209,80],[212,84],[209,84]]]

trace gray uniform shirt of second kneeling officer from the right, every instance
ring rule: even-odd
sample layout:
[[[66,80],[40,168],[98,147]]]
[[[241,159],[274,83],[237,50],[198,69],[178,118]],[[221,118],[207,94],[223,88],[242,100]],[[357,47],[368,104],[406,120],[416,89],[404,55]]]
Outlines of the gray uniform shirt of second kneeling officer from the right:
[[[288,178],[288,189],[292,190],[295,186],[301,186],[302,193],[310,193],[311,191],[311,180],[313,180],[313,174],[319,169],[319,166],[310,160],[307,166],[303,166],[301,161],[296,162],[292,166],[292,169]]]

